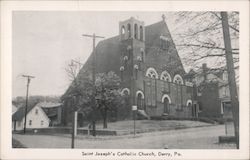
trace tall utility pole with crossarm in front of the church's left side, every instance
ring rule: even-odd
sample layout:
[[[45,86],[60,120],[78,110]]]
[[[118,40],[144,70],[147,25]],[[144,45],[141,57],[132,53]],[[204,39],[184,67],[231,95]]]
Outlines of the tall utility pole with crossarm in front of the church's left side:
[[[90,37],[93,39],[93,60],[92,60],[92,81],[93,81],[93,98],[92,98],[92,103],[93,103],[93,113],[92,113],[92,127],[93,127],[93,136],[96,136],[96,131],[95,131],[95,112],[96,112],[96,100],[95,100],[95,96],[96,96],[96,87],[95,87],[95,79],[96,79],[96,51],[95,51],[95,40],[96,38],[105,38],[102,36],[97,36],[95,35],[95,33],[93,33],[93,35],[89,35],[89,34],[83,34],[82,36],[84,37]]]

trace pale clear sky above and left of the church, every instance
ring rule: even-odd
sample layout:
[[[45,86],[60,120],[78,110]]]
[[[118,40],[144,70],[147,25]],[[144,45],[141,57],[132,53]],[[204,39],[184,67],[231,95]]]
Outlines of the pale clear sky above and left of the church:
[[[161,21],[163,13],[174,31],[173,14],[166,12],[13,12],[12,97],[26,94],[23,74],[35,76],[30,95],[62,95],[70,84],[66,66],[71,59],[84,63],[92,51],[92,39],[82,34],[110,38],[119,34],[119,21],[133,16],[146,26]]]

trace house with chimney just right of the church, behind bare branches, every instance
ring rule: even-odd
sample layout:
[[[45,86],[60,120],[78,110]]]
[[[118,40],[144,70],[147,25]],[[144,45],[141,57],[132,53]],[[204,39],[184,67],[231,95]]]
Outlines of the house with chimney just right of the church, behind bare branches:
[[[191,78],[192,77],[192,78]],[[195,114],[199,117],[232,117],[227,71],[211,69],[191,70],[187,78],[195,84]]]

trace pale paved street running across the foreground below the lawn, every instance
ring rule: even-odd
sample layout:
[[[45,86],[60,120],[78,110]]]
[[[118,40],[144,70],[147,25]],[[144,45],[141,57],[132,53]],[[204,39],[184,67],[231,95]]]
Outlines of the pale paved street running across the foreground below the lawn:
[[[88,149],[235,149],[235,144],[219,144],[218,136],[225,135],[225,126],[188,128],[169,131],[121,136],[84,136],[75,140],[75,148]],[[70,148],[71,137],[67,135],[13,135],[28,148]]]

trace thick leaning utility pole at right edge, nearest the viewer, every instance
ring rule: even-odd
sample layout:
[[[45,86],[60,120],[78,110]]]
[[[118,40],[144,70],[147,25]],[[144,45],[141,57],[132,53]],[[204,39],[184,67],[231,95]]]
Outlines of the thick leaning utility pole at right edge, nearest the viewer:
[[[231,105],[232,105],[232,112],[234,119],[234,134],[236,139],[236,146],[237,149],[239,149],[239,99],[235,81],[234,62],[232,55],[227,12],[221,12],[221,20],[222,20],[224,45],[226,50],[228,84],[229,84],[230,98],[231,98]]]

